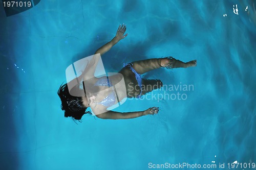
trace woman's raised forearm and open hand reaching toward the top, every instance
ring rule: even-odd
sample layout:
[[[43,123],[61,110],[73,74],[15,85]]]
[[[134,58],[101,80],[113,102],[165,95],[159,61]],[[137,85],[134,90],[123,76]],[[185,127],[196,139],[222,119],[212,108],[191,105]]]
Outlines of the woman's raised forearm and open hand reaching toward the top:
[[[120,25],[117,29],[116,32],[116,36],[108,43],[106,43],[105,45],[101,46],[96,52],[95,54],[100,54],[101,56],[108,52],[110,50],[110,48],[112,48],[112,46],[114,46],[118,41],[120,41],[121,39],[125,38],[128,34],[124,34],[124,32],[126,31],[126,25]]]

